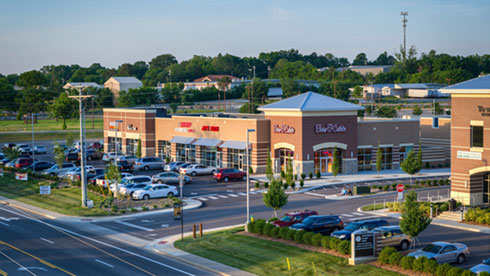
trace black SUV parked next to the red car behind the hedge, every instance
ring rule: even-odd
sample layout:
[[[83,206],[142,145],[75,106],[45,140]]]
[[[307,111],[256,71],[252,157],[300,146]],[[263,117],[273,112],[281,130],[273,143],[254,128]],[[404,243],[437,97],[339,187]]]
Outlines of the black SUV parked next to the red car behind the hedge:
[[[301,223],[293,224],[289,228],[330,235],[334,231],[343,229],[344,222],[339,216],[309,216]]]

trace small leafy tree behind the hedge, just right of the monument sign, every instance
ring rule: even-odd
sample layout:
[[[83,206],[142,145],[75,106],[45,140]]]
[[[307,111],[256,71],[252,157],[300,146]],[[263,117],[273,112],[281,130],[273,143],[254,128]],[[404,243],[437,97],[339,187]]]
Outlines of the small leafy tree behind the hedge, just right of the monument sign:
[[[417,202],[417,193],[414,191],[408,192],[403,204],[400,229],[412,238],[412,247],[418,235],[429,226],[431,221],[420,208]]]

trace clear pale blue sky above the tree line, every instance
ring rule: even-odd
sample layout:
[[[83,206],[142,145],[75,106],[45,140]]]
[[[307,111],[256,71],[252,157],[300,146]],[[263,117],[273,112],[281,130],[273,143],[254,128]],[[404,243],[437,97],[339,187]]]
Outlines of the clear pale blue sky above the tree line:
[[[402,44],[401,11],[419,54],[490,54],[488,0],[0,0],[0,73],[292,48],[374,60]]]

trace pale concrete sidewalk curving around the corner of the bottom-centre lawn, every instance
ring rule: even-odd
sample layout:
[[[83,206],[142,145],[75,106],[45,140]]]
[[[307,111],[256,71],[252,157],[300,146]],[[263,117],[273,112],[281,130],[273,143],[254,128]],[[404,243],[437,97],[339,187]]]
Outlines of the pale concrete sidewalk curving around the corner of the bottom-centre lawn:
[[[203,233],[209,233],[209,232],[214,232],[214,231],[220,231],[220,230],[225,230],[225,229],[231,229],[235,227],[243,226],[243,224],[240,225],[234,225],[234,226],[226,226],[226,227],[220,227],[220,228],[214,228],[214,229],[209,229],[209,230],[204,230]],[[190,236],[192,235],[192,232],[184,233],[184,236]],[[178,259],[179,261],[188,263],[190,265],[195,265],[197,267],[200,267],[201,269],[205,269],[223,276],[252,276],[254,274],[239,270],[238,268],[234,268],[222,263],[218,263],[194,254],[187,253],[185,251],[182,251],[180,249],[175,248],[174,242],[179,240],[181,238],[181,235],[175,235],[171,237],[166,237],[160,240],[155,241],[152,243],[151,248],[159,254],[169,256],[169,257],[174,257]]]

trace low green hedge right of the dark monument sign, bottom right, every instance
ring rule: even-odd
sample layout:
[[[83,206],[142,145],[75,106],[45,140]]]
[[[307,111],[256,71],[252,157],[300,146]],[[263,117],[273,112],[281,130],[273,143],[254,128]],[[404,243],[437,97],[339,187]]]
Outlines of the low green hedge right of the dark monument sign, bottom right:
[[[403,256],[393,247],[385,247],[378,256],[378,261],[382,264],[399,266],[406,270],[415,272],[425,272],[434,276],[475,276],[470,270],[462,270],[459,267],[452,267],[450,264],[438,264],[435,260],[429,260],[427,257],[415,259],[412,256]],[[490,276],[490,274],[482,274]]]

